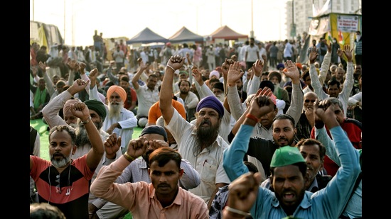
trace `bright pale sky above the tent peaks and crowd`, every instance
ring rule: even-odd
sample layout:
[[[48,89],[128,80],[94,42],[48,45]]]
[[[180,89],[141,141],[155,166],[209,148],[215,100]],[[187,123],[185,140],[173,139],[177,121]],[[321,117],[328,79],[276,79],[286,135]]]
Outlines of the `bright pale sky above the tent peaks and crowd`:
[[[103,38],[133,38],[148,27],[170,38],[183,26],[210,35],[220,26],[256,40],[284,40],[286,0],[30,0],[30,20],[58,26],[66,45]],[[253,6],[253,7],[251,7]],[[65,28],[64,28],[65,26]]]

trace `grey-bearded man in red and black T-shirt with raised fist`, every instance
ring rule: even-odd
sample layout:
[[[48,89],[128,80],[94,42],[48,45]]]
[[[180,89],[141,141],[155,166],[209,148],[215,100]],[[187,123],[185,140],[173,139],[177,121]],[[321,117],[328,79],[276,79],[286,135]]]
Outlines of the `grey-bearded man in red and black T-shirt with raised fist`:
[[[88,218],[90,181],[105,152],[90,111],[85,103],[74,103],[70,111],[85,126],[92,148],[77,159],[76,133],[69,125],[49,132],[50,161],[30,155],[30,176],[36,182],[39,202],[57,206],[66,218]]]

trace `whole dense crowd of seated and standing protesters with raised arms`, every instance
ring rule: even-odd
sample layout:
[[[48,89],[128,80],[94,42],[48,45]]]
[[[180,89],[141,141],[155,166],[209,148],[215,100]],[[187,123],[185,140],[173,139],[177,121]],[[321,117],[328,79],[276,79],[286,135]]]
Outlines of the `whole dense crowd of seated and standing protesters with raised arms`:
[[[300,40],[139,50],[123,40],[107,50],[97,30],[93,40],[88,58],[31,45],[30,118],[48,125],[50,155],[31,127],[31,210],[363,217],[360,31],[354,47],[314,40],[305,63]]]

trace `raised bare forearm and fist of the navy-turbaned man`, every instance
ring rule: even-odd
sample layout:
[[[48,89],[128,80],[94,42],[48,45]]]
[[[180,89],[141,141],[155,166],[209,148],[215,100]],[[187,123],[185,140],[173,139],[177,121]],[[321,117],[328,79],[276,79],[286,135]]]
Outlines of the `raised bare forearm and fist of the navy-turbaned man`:
[[[171,103],[173,94],[173,74],[177,69],[180,69],[183,66],[184,62],[185,57],[181,57],[179,55],[171,56],[167,62],[163,82],[161,82],[159,108],[161,116],[163,116],[166,124],[170,123],[174,111]]]

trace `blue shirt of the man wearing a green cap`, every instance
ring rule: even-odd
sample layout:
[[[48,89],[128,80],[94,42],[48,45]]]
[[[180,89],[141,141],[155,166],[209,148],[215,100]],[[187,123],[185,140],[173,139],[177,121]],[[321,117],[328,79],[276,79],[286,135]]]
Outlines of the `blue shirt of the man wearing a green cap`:
[[[230,147],[224,151],[223,167],[231,181],[248,172],[243,157],[253,128],[251,125],[241,125]],[[341,126],[331,128],[330,133],[342,168],[338,169],[326,188],[315,193],[305,191],[303,200],[293,214],[295,218],[338,218],[353,190],[355,179],[360,173],[359,154]],[[274,192],[260,186],[250,213],[253,218],[280,219],[288,216],[279,205]]]

